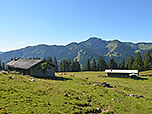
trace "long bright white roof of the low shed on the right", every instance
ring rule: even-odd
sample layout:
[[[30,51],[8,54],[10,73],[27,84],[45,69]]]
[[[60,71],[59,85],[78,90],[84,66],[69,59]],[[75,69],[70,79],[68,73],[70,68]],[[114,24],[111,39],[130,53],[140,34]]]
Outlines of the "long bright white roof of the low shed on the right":
[[[106,73],[128,73],[128,74],[137,74],[138,70],[112,70],[112,69],[106,69]]]

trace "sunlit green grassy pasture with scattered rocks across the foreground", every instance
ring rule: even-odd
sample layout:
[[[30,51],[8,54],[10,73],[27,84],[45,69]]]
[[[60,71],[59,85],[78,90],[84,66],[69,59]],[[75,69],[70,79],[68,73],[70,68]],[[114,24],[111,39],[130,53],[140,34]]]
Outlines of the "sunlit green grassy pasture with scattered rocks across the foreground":
[[[140,74],[152,74],[152,71]],[[74,74],[74,77],[70,77]],[[2,114],[81,114],[104,109],[102,114],[151,114],[152,77],[147,80],[105,77],[104,72],[66,73],[56,80],[0,74],[0,113]],[[16,76],[9,79],[10,76]],[[88,77],[88,80],[85,80]],[[113,88],[95,86],[107,82]],[[130,97],[143,95],[144,98]],[[103,110],[102,110],[103,111]]]

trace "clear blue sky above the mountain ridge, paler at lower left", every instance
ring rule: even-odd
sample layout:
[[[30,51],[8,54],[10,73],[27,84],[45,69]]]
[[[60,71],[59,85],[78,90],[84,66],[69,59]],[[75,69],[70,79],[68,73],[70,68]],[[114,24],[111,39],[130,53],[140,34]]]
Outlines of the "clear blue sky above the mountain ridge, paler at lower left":
[[[152,42],[152,0],[0,0],[0,51],[89,37]]]

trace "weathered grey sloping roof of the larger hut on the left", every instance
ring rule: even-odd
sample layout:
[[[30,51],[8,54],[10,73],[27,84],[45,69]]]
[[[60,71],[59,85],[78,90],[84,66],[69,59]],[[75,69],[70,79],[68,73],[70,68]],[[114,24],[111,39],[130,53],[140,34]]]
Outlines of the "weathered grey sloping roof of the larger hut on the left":
[[[19,69],[29,69],[38,63],[43,62],[43,60],[33,60],[33,59],[14,59],[6,64],[6,66],[19,68]]]

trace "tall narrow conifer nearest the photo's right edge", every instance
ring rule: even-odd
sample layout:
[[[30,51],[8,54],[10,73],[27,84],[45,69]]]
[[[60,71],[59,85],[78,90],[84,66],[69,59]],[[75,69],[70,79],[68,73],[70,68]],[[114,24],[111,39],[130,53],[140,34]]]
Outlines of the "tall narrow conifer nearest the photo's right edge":
[[[144,59],[144,69],[149,70],[151,68],[151,63],[152,63],[151,56],[150,56],[149,51],[147,51],[145,59]]]

